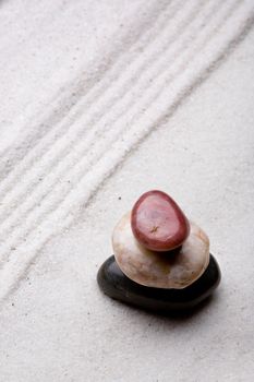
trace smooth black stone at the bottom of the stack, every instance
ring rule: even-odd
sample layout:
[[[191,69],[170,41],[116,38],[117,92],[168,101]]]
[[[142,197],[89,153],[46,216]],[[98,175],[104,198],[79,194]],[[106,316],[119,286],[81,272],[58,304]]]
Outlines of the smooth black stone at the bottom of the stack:
[[[220,270],[210,254],[206,271],[189,287],[184,289],[152,288],[128,278],[112,255],[99,268],[97,282],[100,289],[113,299],[143,309],[172,312],[192,309],[210,296],[219,285]]]

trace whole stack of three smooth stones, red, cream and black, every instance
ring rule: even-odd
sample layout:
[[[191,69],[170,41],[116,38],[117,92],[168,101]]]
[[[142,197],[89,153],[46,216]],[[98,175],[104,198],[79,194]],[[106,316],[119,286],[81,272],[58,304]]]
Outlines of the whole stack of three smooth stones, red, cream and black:
[[[114,256],[98,272],[104,293],[156,311],[189,309],[211,295],[220,271],[209,239],[165,192],[149,191],[117,224]]]

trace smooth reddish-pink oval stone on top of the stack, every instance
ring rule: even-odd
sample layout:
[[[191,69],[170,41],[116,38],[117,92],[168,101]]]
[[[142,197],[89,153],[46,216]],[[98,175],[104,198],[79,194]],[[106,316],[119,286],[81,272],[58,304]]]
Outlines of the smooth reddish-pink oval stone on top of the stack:
[[[162,191],[148,191],[135,203],[131,217],[137,241],[153,251],[180,247],[190,234],[190,224],[178,204]]]

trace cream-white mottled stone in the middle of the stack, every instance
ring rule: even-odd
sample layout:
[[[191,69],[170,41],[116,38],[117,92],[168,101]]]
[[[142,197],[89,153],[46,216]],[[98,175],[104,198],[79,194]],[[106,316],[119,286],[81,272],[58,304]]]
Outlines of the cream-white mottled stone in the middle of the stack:
[[[125,214],[112,235],[114,256],[121,271],[132,280],[148,287],[182,289],[194,283],[209,263],[209,239],[193,222],[179,252],[155,252],[144,248],[131,229],[131,213]]]

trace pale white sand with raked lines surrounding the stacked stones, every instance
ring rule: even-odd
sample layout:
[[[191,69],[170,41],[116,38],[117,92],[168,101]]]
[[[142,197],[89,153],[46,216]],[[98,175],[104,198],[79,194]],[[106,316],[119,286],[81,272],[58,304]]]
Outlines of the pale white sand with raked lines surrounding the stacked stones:
[[[253,3],[27,3],[0,8],[0,381],[251,381],[254,34],[207,69]],[[150,188],[221,264],[216,298],[185,320],[96,285],[114,223]]]

